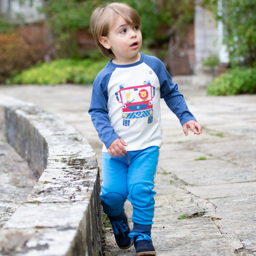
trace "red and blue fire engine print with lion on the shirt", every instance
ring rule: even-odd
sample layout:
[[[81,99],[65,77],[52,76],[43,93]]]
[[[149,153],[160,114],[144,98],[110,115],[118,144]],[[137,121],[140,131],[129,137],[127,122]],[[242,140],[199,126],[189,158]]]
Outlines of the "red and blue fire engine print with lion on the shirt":
[[[147,118],[148,123],[153,121],[153,97],[155,87],[148,81],[144,85],[124,88],[115,93],[116,99],[122,104],[123,126],[130,126],[130,121],[136,118]]]

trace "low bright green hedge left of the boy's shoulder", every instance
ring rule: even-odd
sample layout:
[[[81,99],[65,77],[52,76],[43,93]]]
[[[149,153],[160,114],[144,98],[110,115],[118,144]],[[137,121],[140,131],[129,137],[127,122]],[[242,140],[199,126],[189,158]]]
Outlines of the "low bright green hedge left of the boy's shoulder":
[[[14,76],[11,83],[16,84],[91,84],[97,73],[109,60],[58,59],[50,63],[41,63]],[[10,83],[10,82],[9,82]]]

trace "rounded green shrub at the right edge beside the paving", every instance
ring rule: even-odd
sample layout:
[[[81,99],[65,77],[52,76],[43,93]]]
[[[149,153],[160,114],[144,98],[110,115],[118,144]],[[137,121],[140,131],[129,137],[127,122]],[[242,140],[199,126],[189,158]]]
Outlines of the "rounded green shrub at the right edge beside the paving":
[[[216,77],[207,87],[208,95],[237,95],[256,93],[256,67],[231,69]]]

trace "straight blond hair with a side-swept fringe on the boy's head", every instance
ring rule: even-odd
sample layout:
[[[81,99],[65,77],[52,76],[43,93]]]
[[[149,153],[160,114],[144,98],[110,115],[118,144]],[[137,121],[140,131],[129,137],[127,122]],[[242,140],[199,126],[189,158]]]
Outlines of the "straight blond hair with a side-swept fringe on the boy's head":
[[[96,8],[92,12],[90,19],[90,31],[92,36],[101,53],[109,59],[115,58],[114,53],[111,49],[105,48],[99,40],[102,36],[108,36],[109,29],[114,23],[117,15],[123,17],[123,19],[130,25],[141,27],[140,16],[135,9],[129,5],[118,2],[110,3],[106,7]]]

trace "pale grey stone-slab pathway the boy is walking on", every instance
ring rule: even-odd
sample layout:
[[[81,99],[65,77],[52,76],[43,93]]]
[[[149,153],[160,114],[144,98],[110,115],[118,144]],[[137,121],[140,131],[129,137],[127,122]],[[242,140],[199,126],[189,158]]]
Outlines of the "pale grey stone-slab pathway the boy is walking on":
[[[183,134],[162,102],[163,145],[156,174],[152,239],[158,256],[256,255],[256,95],[209,97],[204,77],[174,77],[203,126]],[[101,142],[88,108],[91,86],[0,87],[0,93],[33,102],[71,124],[92,145],[101,166]],[[132,209],[126,203],[131,217]],[[104,255],[121,251],[105,232]]]

